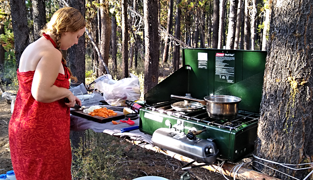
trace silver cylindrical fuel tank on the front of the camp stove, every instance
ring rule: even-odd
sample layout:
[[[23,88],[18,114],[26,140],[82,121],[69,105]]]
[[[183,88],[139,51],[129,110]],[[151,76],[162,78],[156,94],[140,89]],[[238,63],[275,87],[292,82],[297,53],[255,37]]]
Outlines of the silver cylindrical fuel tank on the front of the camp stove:
[[[215,162],[218,154],[218,149],[214,142],[199,138],[190,140],[185,134],[172,131],[168,128],[159,128],[154,131],[151,141],[153,146],[206,164]]]

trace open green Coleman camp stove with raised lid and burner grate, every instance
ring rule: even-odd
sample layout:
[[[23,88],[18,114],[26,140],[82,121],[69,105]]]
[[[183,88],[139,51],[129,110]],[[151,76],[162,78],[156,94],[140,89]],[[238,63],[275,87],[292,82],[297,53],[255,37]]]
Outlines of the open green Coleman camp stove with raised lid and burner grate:
[[[197,137],[210,139],[218,157],[237,162],[254,151],[263,85],[266,51],[182,49],[182,68],[145,94],[140,109],[142,132],[152,135],[159,128],[177,133],[206,129]],[[171,95],[202,99],[208,95],[241,98],[236,117],[221,120],[208,116],[206,108],[177,111]]]

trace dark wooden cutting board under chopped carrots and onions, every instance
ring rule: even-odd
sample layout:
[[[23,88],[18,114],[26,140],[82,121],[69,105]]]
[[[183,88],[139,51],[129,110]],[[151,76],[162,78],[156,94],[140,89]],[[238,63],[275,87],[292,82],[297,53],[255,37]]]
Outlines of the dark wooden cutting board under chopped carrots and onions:
[[[109,116],[107,118],[100,117],[100,116],[90,116],[88,114],[83,113],[83,111],[76,110],[76,109],[71,109],[70,112],[72,115],[79,116],[79,117],[82,117],[82,118],[85,118],[85,119],[88,119],[91,121],[96,121],[99,123],[106,123],[106,122],[121,120],[121,119],[125,118],[125,115],[121,111],[114,111],[117,113],[117,115],[116,116]]]

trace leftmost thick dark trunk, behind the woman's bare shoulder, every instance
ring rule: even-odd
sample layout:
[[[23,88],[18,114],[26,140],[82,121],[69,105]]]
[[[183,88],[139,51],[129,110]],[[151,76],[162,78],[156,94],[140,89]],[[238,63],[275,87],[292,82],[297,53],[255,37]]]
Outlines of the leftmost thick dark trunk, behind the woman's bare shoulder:
[[[21,55],[29,44],[25,1],[10,0],[10,9],[14,34],[14,54],[16,68],[18,68]]]

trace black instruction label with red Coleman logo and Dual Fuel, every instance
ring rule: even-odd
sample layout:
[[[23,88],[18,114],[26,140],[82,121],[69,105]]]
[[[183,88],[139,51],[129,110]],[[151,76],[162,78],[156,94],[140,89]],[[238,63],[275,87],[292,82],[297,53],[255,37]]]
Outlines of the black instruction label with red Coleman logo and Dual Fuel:
[[[215,54],[215,81],[235,83],[235,53]]]

